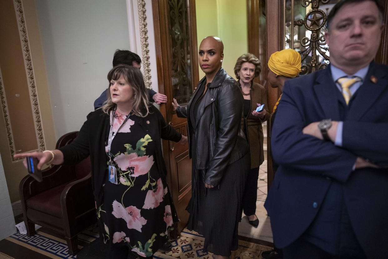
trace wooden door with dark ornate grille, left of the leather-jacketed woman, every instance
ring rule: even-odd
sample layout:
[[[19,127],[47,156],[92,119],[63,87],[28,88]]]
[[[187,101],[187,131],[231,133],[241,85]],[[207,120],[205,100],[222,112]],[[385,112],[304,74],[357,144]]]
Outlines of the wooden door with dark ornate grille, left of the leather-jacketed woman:
[[[189,102],[198,75],[195,0],[152,0],[159,92],[168,102],[160,106],[166,122],[187,136],[187,119],[178,118],[171,102]],[[191,159],[188,145],[163,141],[163,156],[168,170],[168,185],[180,222],[177,233],[186,226],[185,210],[191,198]]]

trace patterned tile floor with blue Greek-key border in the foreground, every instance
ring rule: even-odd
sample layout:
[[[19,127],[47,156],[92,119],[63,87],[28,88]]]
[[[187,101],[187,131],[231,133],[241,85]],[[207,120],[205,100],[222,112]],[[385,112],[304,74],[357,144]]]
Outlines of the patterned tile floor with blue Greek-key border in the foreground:
[[[86,246],[89,243],[93,242],[98,237],[97,226],[92,226],[87,230],[83,231],[78,235],[78,242],[80,248]],[[16,250],[23,250],[23,255],[20,252],[10,252],[9,249],[1,249],[2,243],[10,242],[9,245],[17,247]],[[204,237],[199,235],[195,231],[189,231],[184,229],[181,235],[177,240],[171,241],[173,247],[170,251],[165,252],[159,250],[154,254],[156,259],[212,259],[213,254],[203,251]],[[235,259],[240,257],[240,259],[261,259],[262,251],[270,250],[271,247],[260,245],[257,243],[247,242],[244,240],[239,240],[239,247],[236,251],[232,251],[232,254],[229,258]],[[12,249],[11,249],[12,250]],[[14,249],[13,249],[14,251]],[[27,252],[31,251],[31,252]],[[4,252],[2,257],[1,252]],[[35,252],[35,256],[32,256],[31,253]],[[28,257],[25,257],[28,256]],[[5,240],[0,242],[0,259],[21,259],[21,258],[33,258],[33,259],[43,259],[43,258],[53,258],[53,259],[75,259],[76,256],[70,256],[68,254],[68,247],[63,236],[57,234],[49,229],[40,228],[37,230],[36,235],[27,236],[21,233],[16,233],[12,236],[9,236]]]

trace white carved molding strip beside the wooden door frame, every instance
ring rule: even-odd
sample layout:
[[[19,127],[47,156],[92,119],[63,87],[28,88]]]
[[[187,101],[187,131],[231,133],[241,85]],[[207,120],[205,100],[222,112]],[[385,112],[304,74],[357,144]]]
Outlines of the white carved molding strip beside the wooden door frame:
[[[150,56],[148,48],[148,30],[147,30],[147,16],[145,15],[145,1],[137,0],[137,10],[139,12],[139,29],[140,29],[140,43],[142,48],[142,63],[145,87],[152,89],[151,86],[151,68]]]

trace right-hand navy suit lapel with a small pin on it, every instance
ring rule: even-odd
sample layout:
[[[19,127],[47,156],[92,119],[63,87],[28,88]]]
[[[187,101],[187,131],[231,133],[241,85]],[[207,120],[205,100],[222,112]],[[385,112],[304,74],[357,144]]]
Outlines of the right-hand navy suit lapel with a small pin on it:
[[[371,65],[364,83],[357,90],[355,98],[352,100],[348,120],[359,120],[368,111],[374,102],[379,98],[383,90],[388,87],[388,79],[385,77],[386,71],[375,69]]]

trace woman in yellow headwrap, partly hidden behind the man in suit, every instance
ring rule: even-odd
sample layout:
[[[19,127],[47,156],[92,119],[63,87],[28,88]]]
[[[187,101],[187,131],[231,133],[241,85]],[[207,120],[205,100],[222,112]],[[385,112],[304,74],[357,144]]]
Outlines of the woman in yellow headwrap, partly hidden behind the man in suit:
[[[280,91],[280,97],[277,100],[274,106],[274,110],[270,116],[270,132],[272,130],[272,125],[274,125],[277,105],[279,104],[279,101],[282,97],[284,82],[298,76],[301,71],[300,67],[300,54],[293,49],[277,51],[273,53],[268,60],[268,82],[272,88],[279,88]],[[269,154],[272,158],[271,149],[269,150]],[[277,167],[277,163],[272,160],[272,172],[274,172],[274,174],[277,170]],[[262,257],[266,259],[283,258],[283,252],[281,249],[274,247],[272,250],[262,252]]]

